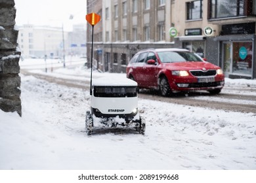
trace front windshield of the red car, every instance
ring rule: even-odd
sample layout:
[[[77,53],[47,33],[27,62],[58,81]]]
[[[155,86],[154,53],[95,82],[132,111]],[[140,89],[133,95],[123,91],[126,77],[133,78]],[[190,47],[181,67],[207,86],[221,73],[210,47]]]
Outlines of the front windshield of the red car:
[[[199,56],[191,52],[158,52],[162,63],[182,62],[182,61],[202,61]]]

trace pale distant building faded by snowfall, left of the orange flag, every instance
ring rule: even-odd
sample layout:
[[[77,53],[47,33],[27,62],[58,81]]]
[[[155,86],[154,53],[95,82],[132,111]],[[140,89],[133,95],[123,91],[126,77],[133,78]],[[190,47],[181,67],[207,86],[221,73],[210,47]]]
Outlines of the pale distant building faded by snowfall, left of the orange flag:
[[[18,35],[22,57],[63,58],[63,54],[85,56],[85,29],[84,24],[74,25],[71,32],[64,31],[62,27],[23,25]]]

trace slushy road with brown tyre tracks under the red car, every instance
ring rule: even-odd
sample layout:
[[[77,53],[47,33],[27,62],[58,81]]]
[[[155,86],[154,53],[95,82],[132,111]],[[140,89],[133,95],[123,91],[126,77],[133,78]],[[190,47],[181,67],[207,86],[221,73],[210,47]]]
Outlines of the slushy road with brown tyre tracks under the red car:
[[[32,72],[32,73],[30,73]],[[43,73],[38,70],[22,69],[21,73],[24,75],[33,75],[37,78],[62,84],[64,86],[89,89],[89,74],[88,75],[65,75],[62,71],[60,73]],[[62,74],[60,76],[60,74]],[[95,73],[96,76],[98,73]],[[125,77],[125,74],[121,75]],[[167,103],[177,103],[181,105],[190,105],[196,107],[215,108],[220,110],[230,110],[235,112],[256,112],[256,82],[248,80],[243,84],[231,84],[230,79],[219,95],[211,95],[208,92],[191,92],[188,95],[177,94],[173,97],[161,97],[154,92],[142,90],[139,97],[142,99],[150,99],[155,101],[165,101]]]

